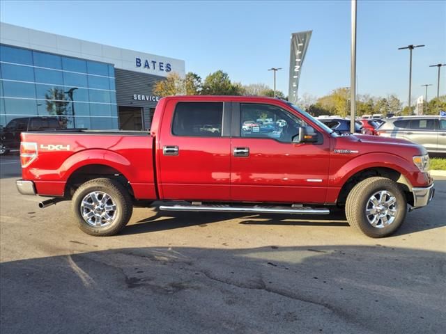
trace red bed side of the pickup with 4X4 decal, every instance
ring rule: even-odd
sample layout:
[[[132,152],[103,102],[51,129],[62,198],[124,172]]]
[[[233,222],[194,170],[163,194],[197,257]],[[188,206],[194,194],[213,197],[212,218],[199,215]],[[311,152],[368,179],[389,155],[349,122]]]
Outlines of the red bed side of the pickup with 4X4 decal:
[[[41,196],[69,195],[77,175],[106,173],[130,186],[134,198],[155,199],[153,138],[148,132],[63,129],[24,132],[22,142],[36,143],[37,157],[22,168]]]

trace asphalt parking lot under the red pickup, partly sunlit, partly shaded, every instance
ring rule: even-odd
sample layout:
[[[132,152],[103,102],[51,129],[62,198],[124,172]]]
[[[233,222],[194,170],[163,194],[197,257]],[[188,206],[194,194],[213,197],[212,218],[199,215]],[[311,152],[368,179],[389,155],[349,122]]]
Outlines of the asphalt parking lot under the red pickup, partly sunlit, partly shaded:
[[[392,237],[329,217],[136,208],[91,237],[0,159],[0,332],[444,333],[446,178]],[[443,329],[442,329],[443,328]]]

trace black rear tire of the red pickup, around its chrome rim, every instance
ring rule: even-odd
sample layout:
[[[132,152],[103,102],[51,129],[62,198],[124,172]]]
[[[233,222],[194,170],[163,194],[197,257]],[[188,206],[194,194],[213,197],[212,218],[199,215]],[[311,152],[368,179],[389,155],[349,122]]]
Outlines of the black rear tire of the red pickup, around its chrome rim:
[[[91,214],[95,215],[93,209],[85,207],[86,204],[82,204],[82,201],[87,199],[84,203],[87,202],[87,205],[94,207],[94,202],[91,202],[91,204],[88,203],[88,200],[92,198],[91,194],[93,193],[95,193],[93,196],[95,196],[96,200],[99,197],[100,199],[104,199],[105,196],[103,194],[109,196],[109,199],[111,200],[111,202],[107,202],[109,207],[111,208],[112,205],[116,207],[115,210],[110,209],[110,211],[107,212],[107,214],[111,212],[113,218],[110,219],[110,221],[106,221],[103,225],[102,219],[105,218],[99,219],[100,225],[91,225],[92,223],[89,223],[82,215],[82,210],[84,213],[90,214],[91,212]],[[107,205],[107,203],[104,205]],[[98,208],[98,210],[100,210],[100,208]],[[72,196],[72,212],[75,214],[78,226],[83,232],[97,237],[107,237],[117,234],[125,227],[125,225],[127,225],[132,216],[133,203],[128,190],[125,189],[125,186],[121,183],[107,178],[98,178],[85,182],[75,191]],[[100,212],[98,212],[98,214],[100,214]],[[97,218],[95,218],[95,220],[96,219]]]

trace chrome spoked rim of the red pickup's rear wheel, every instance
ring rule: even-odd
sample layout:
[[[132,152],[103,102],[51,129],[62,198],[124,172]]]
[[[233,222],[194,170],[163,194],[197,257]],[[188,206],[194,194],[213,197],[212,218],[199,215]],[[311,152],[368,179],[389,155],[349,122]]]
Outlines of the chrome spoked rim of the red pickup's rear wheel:
[[[88,193],[81,202],[84,221],[95,228],[104,228],[116,219],[116,203],[102,191]]]

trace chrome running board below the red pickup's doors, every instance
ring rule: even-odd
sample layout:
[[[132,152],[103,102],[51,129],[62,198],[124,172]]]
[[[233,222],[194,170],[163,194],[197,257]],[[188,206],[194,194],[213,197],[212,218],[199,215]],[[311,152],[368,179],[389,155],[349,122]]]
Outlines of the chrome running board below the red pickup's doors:
[[[240,212],[247,214],[330,214],[329,209],[312,207],[231,207],[229,205],[161,205],[161,211]]]

